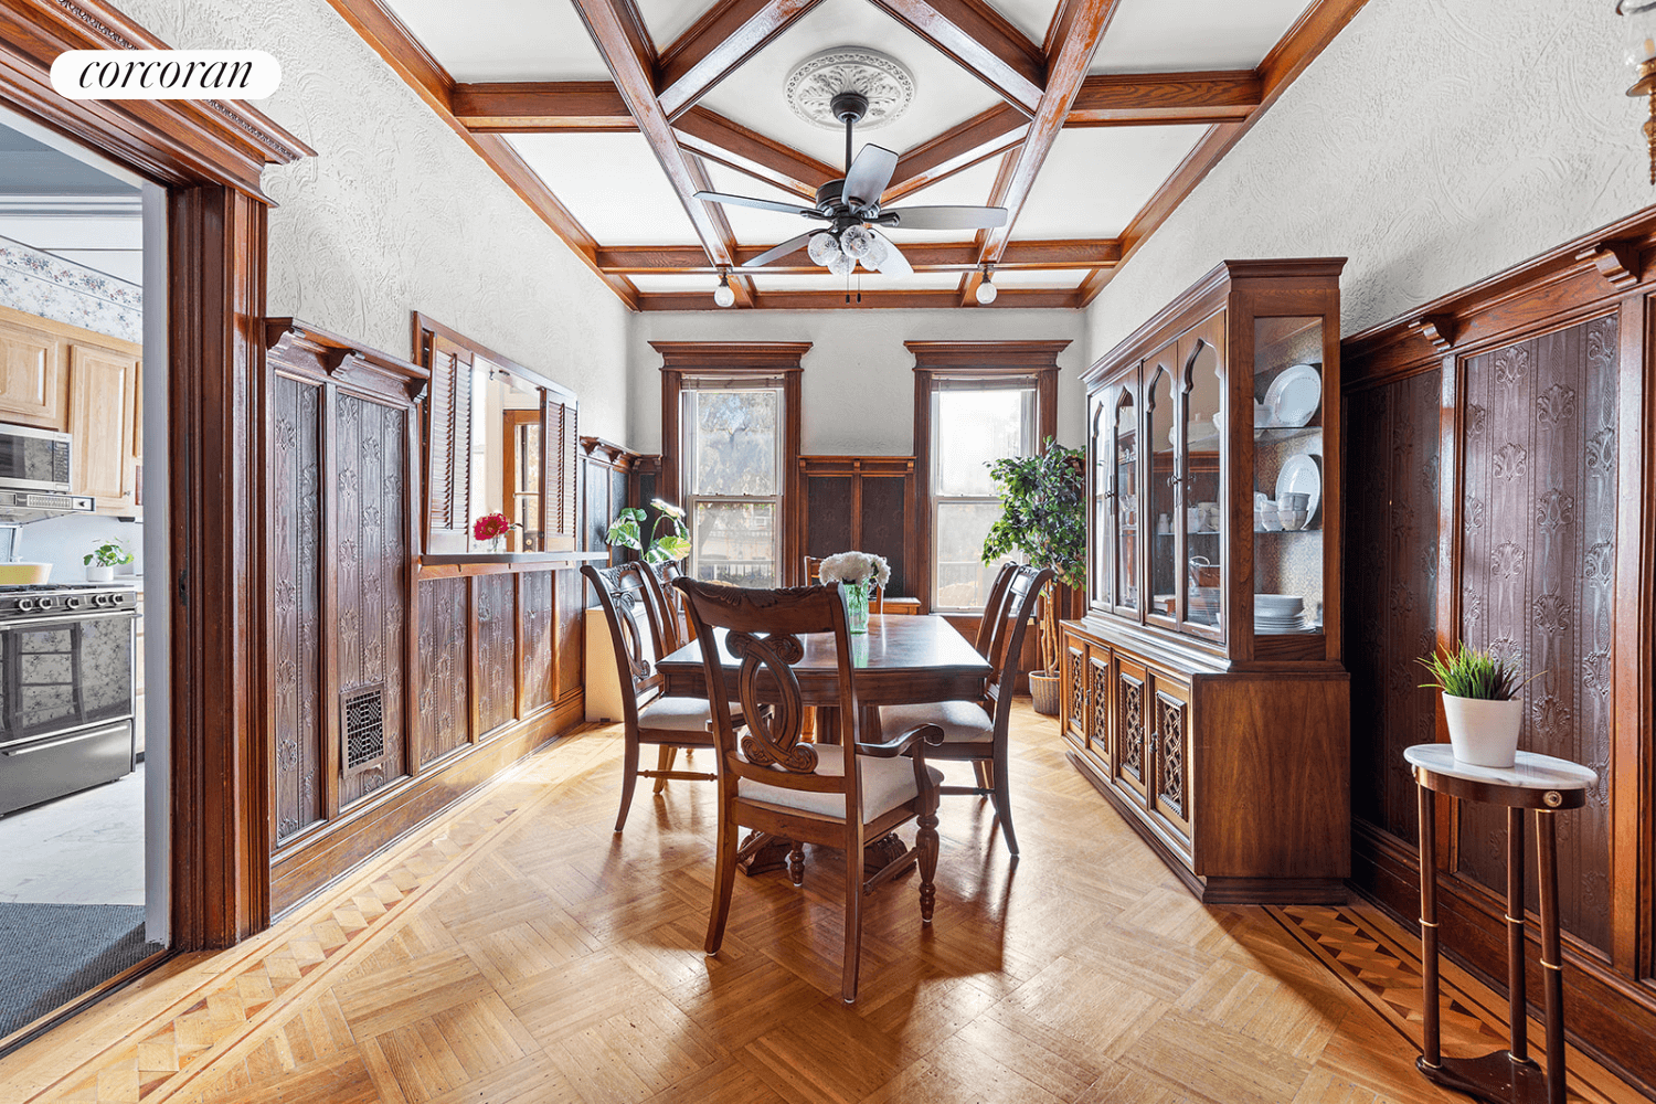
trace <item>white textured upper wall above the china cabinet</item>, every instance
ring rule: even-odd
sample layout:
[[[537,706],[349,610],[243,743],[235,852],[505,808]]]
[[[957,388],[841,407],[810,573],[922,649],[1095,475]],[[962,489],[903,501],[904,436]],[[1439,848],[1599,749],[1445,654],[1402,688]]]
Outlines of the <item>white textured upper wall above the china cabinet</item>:
[[[1225,258],[1350,257],[1356,333],[1656,202],[1611,0],[1370,0],[1088,313],[1103,356]]]

